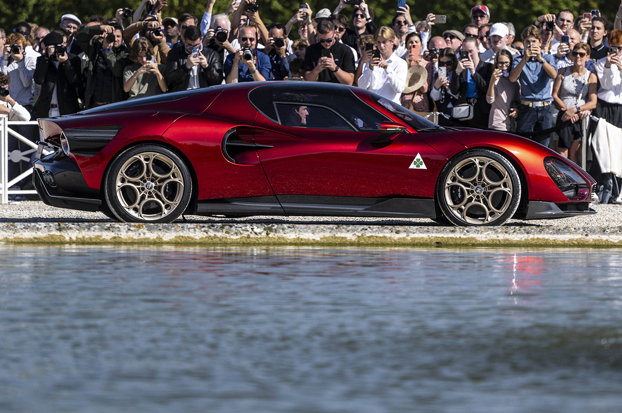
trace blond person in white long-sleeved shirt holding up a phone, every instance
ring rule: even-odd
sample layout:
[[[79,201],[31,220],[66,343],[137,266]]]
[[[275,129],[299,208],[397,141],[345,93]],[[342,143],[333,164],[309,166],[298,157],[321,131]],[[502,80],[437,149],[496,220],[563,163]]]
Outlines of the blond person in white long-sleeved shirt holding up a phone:
[[[391,27],[383,26],[374,35],[376,53],[365,63],[358,86],[399,104],[406,87],[408,65],[393,51],[393,39],[395,32]]]

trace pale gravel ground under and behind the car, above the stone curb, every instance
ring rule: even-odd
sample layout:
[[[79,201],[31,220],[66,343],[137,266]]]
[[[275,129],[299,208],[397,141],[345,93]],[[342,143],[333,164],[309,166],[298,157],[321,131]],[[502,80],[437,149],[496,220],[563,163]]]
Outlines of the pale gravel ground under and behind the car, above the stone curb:
[[[561,220],[510,220],[505,226],[548,226],[554,228],[588,228],[622,226],[622,205],[594,205],[595,215],[573,216]],[[252,216],[248,218],[212,218],[209,216],[187,215],[188,223],[290,223],[290,224],[341,224],[341,225],[410,225],[437,226],[432,220],[416,218],[341,218],[341,217],[303,217],[303,216]],[[0,205],[0,222],[4,223],[86,223],[113,222],[100,212],[85,212],[50,207],[40,201],[19,201]],[[184,222],[182,219],[175,223]]]

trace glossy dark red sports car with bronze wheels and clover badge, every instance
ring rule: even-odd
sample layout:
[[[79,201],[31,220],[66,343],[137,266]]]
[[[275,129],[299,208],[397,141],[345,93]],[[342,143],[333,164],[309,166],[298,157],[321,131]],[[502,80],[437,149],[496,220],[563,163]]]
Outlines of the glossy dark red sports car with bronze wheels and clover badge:
[[[39,128],[42,200],[118,221],[186,213],[501,225],[595,213],[594,180],[540,144],[442,128],[332,83],[218,85],[39,119]]]

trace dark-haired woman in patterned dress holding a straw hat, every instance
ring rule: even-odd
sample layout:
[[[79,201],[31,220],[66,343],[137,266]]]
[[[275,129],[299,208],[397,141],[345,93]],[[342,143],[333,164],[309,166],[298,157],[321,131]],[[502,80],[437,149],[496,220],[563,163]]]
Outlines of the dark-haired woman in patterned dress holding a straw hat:
[[[421,57],[421,38],[419,34],[409,33],[406,36],[405,56],[408,65],[406,88],[402,91],[399,101],[404,108],[415,112],[430,111],[430,85],[434,77],[434,63]],[[419,86],[420,85],[420,86]]]

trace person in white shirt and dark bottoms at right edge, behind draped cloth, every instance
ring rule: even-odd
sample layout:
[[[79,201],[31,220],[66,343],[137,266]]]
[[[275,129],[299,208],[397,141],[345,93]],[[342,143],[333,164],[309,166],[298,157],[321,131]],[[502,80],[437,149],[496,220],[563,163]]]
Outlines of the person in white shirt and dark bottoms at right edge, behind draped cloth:
[[[600,80],[598,101],[596,102],[595,116],[605,119],[608,123],[622,128],[622,30],[611,30],[609,48],[606,57],[596,62],[596,73]],[[596,167],[598,162],[592,162]],[[600,174],[600,170],[590,170],[600,188],[598,197],[601,203],[610,203],[616,200],[613,193],[612,174]],[[620,188],[620,185],[618,185]]]

